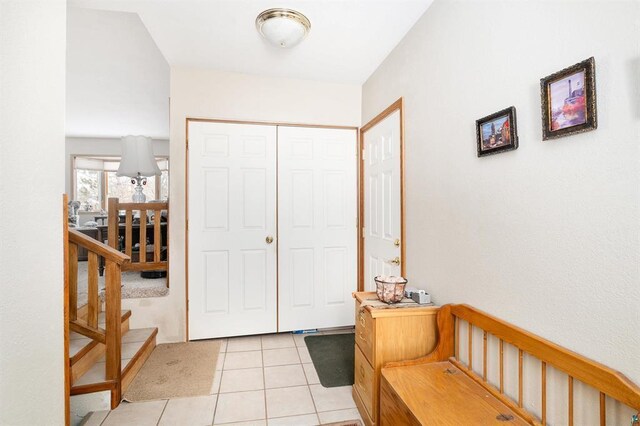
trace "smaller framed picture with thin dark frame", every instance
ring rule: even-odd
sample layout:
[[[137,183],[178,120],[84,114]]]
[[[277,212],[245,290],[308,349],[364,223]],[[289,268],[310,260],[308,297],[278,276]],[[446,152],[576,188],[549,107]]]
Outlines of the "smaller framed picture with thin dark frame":
[[[509,107],[476,120],[478,157],[518,148],[516,108]]]

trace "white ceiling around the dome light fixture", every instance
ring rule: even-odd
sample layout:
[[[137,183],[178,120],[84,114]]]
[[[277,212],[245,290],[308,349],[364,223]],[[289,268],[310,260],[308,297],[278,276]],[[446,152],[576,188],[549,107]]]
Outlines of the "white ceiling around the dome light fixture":
[[[363,83],[432,0],[69,0],[137,13],[170,66]],[[260,38],[256,16],[287,7],[311,20],[291,50]],[[126,46],[123,46],[126,47]]]

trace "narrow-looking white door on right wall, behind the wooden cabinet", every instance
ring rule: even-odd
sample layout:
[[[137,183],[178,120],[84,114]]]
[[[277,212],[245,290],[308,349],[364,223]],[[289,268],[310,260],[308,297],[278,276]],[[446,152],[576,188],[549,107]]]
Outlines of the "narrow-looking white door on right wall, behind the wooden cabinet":
[[[400,111],[364,133],[364,289],[400,275]]]

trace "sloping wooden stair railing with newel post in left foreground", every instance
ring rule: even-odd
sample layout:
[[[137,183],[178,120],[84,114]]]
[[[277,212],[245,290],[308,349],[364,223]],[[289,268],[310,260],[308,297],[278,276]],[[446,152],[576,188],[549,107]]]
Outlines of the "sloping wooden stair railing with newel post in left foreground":
[[[129,256],[78,231],[69,229],[69,329],[105,345],[105,378],[112,382],[112,408],[121,398],[121,280]],[[86,315],[78,315],[78,247],[88,251],[88,303]],[[98,326],[101,303],[98,294],[98,256],[105,261],[105,325]]]

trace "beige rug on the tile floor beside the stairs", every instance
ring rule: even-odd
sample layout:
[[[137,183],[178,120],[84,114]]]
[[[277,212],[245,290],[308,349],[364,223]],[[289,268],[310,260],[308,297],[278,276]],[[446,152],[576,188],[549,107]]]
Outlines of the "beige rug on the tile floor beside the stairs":
[[[220,342],[158,345],[127,389],[129,402],[209,395]]]

